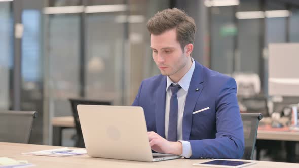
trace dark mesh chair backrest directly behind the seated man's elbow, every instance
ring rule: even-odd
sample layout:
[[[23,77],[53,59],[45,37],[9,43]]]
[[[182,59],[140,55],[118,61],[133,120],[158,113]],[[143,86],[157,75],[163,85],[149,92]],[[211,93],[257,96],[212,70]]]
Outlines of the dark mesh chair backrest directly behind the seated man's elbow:
[[[263,118],[260,113],[241,113],[244,129],[245,150],[242,159],[252,160],[258,123]]]

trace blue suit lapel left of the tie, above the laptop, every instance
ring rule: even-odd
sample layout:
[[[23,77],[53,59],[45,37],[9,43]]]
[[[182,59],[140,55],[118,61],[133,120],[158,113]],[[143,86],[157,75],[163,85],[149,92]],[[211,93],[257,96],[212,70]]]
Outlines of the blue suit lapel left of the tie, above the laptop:
[[[165,99],[166,99],[166,76],[163,76],[163,79],[158,86],[157,95],[156,95],[156,128],[157,133],[165,138]]]

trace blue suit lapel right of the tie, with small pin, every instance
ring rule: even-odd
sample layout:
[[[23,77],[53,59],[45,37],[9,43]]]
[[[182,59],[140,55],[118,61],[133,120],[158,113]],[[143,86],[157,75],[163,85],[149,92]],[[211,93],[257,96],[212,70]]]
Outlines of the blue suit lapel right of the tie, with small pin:
[[[191,126],[192,126],[192,113],[195,108],[199,95],[203,90],[203,73],[202,65],[195,62],[195,69],[190,81],[188,94],[183,114],[183,140],[189,140]]]

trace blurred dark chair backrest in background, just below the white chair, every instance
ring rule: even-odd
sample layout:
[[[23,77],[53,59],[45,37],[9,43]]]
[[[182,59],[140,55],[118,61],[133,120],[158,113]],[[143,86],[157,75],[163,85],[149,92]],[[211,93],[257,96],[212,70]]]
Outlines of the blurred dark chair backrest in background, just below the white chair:
[[[264,117],[269,116],[267,98],[263,96],[241,97],[239,103],[246,108],[246,113],[261,113]]]

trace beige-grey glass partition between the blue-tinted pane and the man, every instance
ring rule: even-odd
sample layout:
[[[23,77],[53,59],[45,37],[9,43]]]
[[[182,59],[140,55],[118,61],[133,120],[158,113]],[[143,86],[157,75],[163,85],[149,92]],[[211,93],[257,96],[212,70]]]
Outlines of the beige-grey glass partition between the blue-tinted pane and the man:
[[[48,1],[45,17],[44,139],[51,120],[72,115],[69,98],[131,105],[151,75],[147,18],[168,1]],[[142,68],[145,67],[145,68]],[[144,70],[143,70],[144,69]]]

